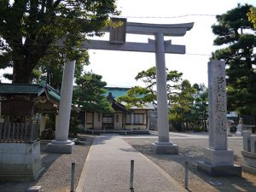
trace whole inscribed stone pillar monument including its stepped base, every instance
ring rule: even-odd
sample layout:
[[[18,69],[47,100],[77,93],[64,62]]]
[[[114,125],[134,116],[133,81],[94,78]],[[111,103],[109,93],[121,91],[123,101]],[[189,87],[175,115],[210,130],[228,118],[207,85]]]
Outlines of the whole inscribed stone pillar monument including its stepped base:
[[[241,176],[241,166],[234,165],[233,151],[227,143],[226,81],[224,61],[208,62],[209,147],[197,169],[212,176]]]

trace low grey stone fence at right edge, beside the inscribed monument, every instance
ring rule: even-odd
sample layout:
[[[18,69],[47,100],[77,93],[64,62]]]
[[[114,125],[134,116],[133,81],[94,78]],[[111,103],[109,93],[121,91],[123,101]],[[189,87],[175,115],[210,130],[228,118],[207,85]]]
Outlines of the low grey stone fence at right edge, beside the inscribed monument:
[[[241,170],[256,174],[256,135],[252,135],[250,131],[242,131],[242,135]]]

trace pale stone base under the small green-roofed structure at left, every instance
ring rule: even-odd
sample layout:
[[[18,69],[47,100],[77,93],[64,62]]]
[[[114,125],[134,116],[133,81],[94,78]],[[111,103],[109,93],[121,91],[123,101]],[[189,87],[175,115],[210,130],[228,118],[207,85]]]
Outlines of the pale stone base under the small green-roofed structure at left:
[[[0,143],[0,180],[29,181],[42,172],[40,142]]]

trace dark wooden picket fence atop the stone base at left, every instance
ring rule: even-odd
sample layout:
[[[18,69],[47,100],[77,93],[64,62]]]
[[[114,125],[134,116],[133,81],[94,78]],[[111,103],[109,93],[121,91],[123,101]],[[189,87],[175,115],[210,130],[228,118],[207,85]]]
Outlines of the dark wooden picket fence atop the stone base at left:
[[[33,143],[38,140],[37,124],[0,123],[0,143]]]

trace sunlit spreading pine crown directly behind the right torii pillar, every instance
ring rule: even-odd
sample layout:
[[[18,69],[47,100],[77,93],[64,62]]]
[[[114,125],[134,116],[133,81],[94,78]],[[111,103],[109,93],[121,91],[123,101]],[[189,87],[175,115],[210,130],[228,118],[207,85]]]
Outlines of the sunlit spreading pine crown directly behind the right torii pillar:
[[[174,91],[177,90],[182,73],[169,71],[166,68],[167,96],[172,99]],[[141,80],[144,87],[135,86],[127,91],[127,96],[119,96],[119,102],[126,102],[127,107],[142,106],[145,102],[156,102],[156,67],[137,74],[136,80]]]

